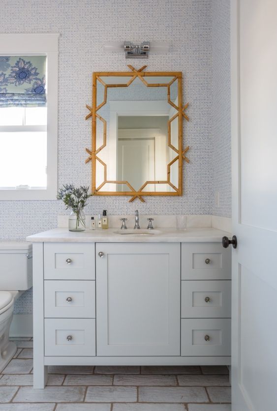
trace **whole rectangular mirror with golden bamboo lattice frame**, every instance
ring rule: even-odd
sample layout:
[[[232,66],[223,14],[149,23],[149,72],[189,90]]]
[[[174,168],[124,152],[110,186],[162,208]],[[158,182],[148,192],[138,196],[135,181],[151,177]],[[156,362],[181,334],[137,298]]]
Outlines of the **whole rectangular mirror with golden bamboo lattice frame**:
[[[92,75],[92,193],[98,196],[181,196],[183,118],[182,72]]]

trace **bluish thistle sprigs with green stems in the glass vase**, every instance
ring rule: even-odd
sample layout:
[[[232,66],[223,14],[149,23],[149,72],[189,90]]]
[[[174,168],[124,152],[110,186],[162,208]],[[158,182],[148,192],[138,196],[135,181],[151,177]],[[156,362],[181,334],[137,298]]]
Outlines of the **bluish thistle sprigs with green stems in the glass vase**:
[[[58,191],[57,199],[62,200],[65,204],[66,210],[71,208],[76,214],[76,231],[80,225],[80,222],[85,227],[86,223],[84,217],[81,215],[81,211],[88,204],[88,199],[92,197],[89,193],[90,187],[81,185],[76,188],[73,184],[64,184]]]

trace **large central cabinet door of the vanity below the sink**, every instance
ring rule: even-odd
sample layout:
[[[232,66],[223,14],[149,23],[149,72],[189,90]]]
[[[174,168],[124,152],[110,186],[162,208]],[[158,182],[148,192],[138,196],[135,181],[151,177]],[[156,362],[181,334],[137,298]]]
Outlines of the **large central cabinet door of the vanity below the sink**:
[[[96,244],[97,355],[180,355],[180,253],[179,243]]]

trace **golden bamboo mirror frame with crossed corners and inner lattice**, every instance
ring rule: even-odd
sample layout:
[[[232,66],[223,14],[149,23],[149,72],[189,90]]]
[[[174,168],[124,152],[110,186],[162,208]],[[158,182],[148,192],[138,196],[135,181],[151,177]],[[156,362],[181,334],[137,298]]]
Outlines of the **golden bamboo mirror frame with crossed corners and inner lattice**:
[[[92,194],[97,196],[131,196],[129,202],[132,202],[134,199],[138,198],[140,201],[145,202],[143,199],[144,196],[182,196],[183,194],[183,160],[187,163],[189,160],[186,157],[186,152],[189,147],[183,149],[183,117],[188,121],[188,117],[185,114],[185,109],[188,107],[188,103],[183,105],[183,96],[182,96],[182,72],[146,72],[144,65],[140,69],[136,70],[133,66],[128,65],[131,71],[124,72],[94,72],[92,74],[92,106],[87,105],[86,107],[90,110],[90,113],[86,116],[86,120],[92,117],[92,148],[86,148],[89,157],[86,159],[86,163],[92,162]],[[129,77],[130,79],[123,84],[107,84],[103,81],[103,77]],[[168,83],[151,83],[149,77],[171,77],[171,81]],[[110,88],[123,88],[129,87],[135,79],[139,79],[145,87],[161,87],[165,88],[165,100],[167,103],[176,110],[176,113],[168,119],[167,121],[167,147],[170,147],[175,155],[174,158],[166,164],[167,178],[163,180],[151,180],[145,181],[144,184],[138,189],[134,189],[129,181],[118,181],[118,180],[109,180],[107,179],[107,167],[106,164],[99,156],[101,150],[107,146],[107,120],[99,115],[98,110],[101,109],[107,103],[108,90]],[[178,90],[178,106],[173,101],[171,101],[171,85],[177,82]],[[97,84],[101,84],[104,87],[103,92],[103,101],[97,101]],[[171,142],[171,123],[173,120],[178,118],[178,147],[174,147]],[[97,147],[96,141],[96,122],[101,121],[101,126],[103,130],[103,136],[101,144]],[[177,146],[177,145],[176,145]],[[96,186],[96,165],[98,163],[103,167],[103,181]],[[176,187],[170,181],[171,166],[178,162],[178,187]],[[124,184],[128,187],[129,191],[100,191],[103,190],[105,184]],[[167,184],[172,191],[143,191],[148,184]],[[161,186],[162,189],[162,186]]]

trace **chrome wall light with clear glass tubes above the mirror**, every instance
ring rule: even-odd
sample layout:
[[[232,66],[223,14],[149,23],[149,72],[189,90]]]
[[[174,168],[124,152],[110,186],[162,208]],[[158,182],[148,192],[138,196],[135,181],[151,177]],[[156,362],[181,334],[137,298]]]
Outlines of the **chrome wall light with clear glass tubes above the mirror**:
[[[149,52],[164,54],[169,52],[169,44],[162,41],[107,41],[104,44],[107,53],[125,52],[126,59],[148,59]]]

